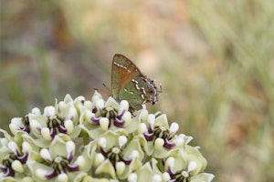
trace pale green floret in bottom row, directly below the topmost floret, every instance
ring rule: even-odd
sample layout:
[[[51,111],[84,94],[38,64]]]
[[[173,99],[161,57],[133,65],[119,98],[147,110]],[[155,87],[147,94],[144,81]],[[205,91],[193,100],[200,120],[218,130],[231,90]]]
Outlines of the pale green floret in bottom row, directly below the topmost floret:
[[[142,167],[144,154],[138,141],[111,130],[100,136],[94,152],[95,175],[125,179],[133,170]]]

